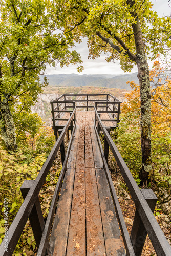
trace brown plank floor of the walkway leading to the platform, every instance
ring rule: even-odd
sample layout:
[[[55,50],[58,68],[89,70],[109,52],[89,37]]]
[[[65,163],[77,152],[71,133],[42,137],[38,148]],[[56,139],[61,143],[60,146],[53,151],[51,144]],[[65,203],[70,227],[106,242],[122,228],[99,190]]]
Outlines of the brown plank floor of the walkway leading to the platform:
[[[94,132],[94,111],[79,111],[76,119],[49,255],[125,255]]]

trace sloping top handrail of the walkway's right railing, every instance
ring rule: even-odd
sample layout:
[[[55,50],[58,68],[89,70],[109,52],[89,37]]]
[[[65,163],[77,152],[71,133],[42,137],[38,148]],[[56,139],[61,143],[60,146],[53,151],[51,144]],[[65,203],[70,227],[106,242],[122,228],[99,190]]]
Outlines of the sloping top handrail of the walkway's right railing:
[[[106,137],[106,140],[108,141],[112,153],[116,159],[116,162],[120,168],[121,174],[126,182],[127,187],[130,190],[130,194],[134,200],[134,203],[137,207],[139,216],[141,217],[141,220],[145,226],[145,229],[148,233],[149,239],[152,241],[152,244],[154,246],[154,249],[158,255],[171,255],[171,247],[168,244],[158,222],[156,221],[153,212],[149,208],[145,198],[143,197],[136,181],[134,180],[134,177],[130,173],[129,168],[125,164],[123,158],[121,157],[115,143],[113,142],[112,138],[106,131],[103,123],[101,122],[99,115],[97,113],[97,110],[95,108],[95,114],[97,117],[97,120],[100,124],[101,130],[103,131],[104,136]]]

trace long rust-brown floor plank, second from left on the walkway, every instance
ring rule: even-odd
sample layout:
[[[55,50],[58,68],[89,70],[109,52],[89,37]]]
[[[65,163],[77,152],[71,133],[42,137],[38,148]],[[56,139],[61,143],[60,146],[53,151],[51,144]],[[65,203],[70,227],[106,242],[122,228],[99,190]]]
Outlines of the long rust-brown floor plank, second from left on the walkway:
[[[73,202],[66,256],[68,255],[86,256],[84,127],[80,127],[78,141]]]

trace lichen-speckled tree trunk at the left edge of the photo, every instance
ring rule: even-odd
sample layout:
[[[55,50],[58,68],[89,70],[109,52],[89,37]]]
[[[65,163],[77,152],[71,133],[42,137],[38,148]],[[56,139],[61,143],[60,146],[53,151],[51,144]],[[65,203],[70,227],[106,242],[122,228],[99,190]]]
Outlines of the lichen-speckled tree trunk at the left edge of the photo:
[[[16,151],[15,124],[8,104],[8,96],[0,102],[0,128],[8,151]]]

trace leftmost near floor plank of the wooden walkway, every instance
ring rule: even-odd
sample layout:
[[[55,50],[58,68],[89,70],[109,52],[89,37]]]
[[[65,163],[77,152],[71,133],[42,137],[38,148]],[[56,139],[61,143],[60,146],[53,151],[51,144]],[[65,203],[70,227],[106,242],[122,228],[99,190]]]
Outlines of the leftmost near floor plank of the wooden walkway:
[[[66,254],[75,169],[67,169],[50,238],[49,256]]]

